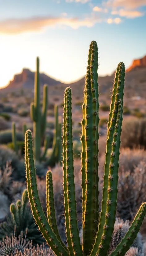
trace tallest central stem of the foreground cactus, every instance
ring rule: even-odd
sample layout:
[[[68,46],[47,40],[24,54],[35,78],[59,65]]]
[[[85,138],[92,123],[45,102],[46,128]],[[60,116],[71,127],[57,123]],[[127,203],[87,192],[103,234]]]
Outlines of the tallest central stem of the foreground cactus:
[[[97,43],[91,42],[88,55],[88,69],[86,79],[86,205],[85,205],[85,219],[84,219],[84,253],[88,255],[94,244],[93,237],[95,237],[95,164],[96,164],[96,124],[97,116],[97,101],[95,91],[97,88],[97,68],[98,68],[98,49]],[[97,94],[97,93],[96,93]]]

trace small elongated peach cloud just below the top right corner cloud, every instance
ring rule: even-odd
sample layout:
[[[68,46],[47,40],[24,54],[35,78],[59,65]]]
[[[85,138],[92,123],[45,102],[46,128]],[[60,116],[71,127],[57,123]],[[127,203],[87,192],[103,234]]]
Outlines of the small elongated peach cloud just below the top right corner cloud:
[[[124,9],[120,9],[118,11],[112,11],[111,14],[113,15],[119,15],[121,17],[126,17],[126,18],[129,18],[129,19],[132,19],[132,18],[137,18],[137,17],[141,17],[144,15],[143,12],[141,11],[128,11],[128,10],[124,10]]]

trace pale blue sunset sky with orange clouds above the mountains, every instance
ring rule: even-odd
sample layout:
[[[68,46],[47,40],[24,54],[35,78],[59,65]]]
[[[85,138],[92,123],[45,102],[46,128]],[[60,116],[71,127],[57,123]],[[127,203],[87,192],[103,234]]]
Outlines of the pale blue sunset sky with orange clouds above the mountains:
[[[101,76],[146,55],[146,0],[0,0],[0,87],[23,68],[70,83],[96,40]]]

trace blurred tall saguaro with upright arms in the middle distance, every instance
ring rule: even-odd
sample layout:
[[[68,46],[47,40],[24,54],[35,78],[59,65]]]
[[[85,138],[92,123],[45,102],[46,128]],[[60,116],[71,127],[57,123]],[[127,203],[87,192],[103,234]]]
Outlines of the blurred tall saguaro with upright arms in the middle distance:
[[[45,138],[46,129],[46,117],[47,117],[47,107],[48,107],[48,87],[45,84],[43,88],[43,106],[41,113],[41,103],[40,103],[40,81],[39,81],[39,58],[37,57],[37,70],[35,73],[35,83],[34,83],[34,103],[31,103],[30,114],[33,121],[33,139],[34,139],[34,156],[37,161],[42,161],[45,159],[45,155],[49,145],[49,137]],[[54,135],[54,145],[53,152],[50,161],[47,164],[52,163],[54,159],[55,150],[57,150],[56,136],[58,135],[58,107],[56,106],[56,130]],[[44,141],[44,152],[41,154],[41,144]],[[57,159],[58,160],[58,159]]]

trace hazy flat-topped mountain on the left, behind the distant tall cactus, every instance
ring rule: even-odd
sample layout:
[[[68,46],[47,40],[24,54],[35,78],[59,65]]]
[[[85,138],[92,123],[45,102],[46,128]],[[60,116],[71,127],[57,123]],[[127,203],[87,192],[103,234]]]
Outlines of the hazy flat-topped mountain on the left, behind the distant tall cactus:
[[[1,90],[15,90],[15,89],[33,89],[34,88],[34,72],[31,72],[29,69],[24,68],[20,74],[14,75],[13,80],[9,82],[9,84],[2,88]],[[59,81],[45,75],[44,73],[40,73],[40,85],[60,85],[62,84]]]

